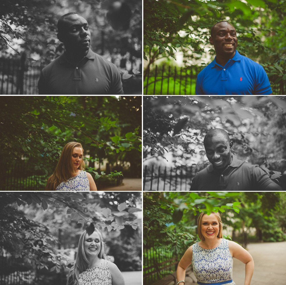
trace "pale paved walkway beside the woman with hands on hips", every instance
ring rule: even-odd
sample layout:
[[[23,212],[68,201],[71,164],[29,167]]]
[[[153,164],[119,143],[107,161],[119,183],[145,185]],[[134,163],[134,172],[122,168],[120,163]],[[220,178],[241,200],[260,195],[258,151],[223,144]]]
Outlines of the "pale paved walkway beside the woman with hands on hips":
[[[251,285],[286,285],[286,241],[251,243],[247,250],[254,260]],[[190,276],[196,280],[193,272]],[[243,285],[244,278],[245,264],[233,258],[233,281]],[[185,285],[195,284],[190,277],[185,281]]]

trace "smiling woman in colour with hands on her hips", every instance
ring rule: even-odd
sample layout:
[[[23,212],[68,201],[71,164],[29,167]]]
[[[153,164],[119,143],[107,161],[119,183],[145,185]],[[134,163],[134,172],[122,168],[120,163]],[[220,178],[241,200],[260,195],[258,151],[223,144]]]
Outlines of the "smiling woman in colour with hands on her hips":
[[[177,285],[185,284],[186,269],[192,263],[197,278],[195,285],[235,285],[232,280],[233,257],[245,264],[244,285],[250,285],[254,262],[252,256],[239,244],[223,238],[221,215],[212,212],[198,217],[200,241],[190,246],[177,268]]]

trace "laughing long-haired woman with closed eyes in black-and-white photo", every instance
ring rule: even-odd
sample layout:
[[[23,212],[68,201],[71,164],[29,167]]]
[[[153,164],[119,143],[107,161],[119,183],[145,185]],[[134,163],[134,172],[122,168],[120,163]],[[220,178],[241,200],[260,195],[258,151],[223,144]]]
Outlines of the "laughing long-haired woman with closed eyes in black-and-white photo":
[[[70,269],[67,285],[125,285],[118,267],[106,260],[104,242],[98,229],[80,236],[76,264]]]

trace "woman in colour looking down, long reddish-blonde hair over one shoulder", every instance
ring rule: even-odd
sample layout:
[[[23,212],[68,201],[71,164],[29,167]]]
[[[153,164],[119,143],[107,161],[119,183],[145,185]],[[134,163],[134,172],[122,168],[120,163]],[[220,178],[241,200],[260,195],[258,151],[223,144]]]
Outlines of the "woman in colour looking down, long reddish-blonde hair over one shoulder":
[[[95,182],[85,169],[81,143],[67,143],[53,175],[47,181],[47,191],[97,191]]]

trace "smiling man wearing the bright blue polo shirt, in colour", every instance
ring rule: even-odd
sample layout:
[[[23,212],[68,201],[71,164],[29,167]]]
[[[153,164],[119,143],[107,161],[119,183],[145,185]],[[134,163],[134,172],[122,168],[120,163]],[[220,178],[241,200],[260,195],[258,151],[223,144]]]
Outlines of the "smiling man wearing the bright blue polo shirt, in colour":
[[[216,57],[199,74],[196,95],[273,95],[263,67],[236,50],[235,28],[227,21],[210,32]]]

